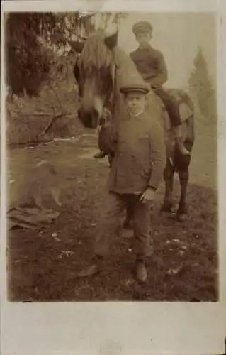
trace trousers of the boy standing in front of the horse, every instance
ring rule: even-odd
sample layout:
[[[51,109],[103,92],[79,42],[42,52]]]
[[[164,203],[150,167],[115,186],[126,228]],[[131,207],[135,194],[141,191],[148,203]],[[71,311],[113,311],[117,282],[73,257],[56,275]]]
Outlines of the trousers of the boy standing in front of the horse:
[[[106,256],[109,253],[113,239],[120,231],[120,218],[128,204],[134,217],[133,249],[137,260],[145,260],[152,255],[150,203],[140,202],[137,195],[108,192],[94,242],[94,253],[97,256]]]

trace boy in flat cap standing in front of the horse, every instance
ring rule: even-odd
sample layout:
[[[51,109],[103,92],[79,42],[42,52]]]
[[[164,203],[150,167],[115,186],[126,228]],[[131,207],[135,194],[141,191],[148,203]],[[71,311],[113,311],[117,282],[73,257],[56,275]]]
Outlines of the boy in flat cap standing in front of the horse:
[[[162,180],[165,167],[164,133],[145,112],[145,83],[121,87],[128,114],[114,127],[106,121],[99,134],[99,146],[114,153],[108,181],[106,203],[94,246],[94,263],[80,276],[94,275],[103,268],[113,236],[120,226],[120,216],[130,204],[134,214],[136,253],[135,274],[138,281],[147,280],[146,261],[152,255],[150,207]]]

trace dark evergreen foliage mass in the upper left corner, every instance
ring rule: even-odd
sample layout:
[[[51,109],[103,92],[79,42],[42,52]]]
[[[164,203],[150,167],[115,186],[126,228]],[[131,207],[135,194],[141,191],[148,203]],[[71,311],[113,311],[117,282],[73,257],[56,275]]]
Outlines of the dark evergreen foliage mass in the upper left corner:
[[[30,13],[8,15],[5,45],[6,84],[20,97],[37,96],[50,72],[53,53],[40,43]]]

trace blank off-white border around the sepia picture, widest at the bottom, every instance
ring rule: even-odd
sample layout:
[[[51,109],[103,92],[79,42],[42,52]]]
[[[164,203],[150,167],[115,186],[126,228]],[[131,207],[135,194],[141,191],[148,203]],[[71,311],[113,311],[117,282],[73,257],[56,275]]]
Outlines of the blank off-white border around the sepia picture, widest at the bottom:
[[[1,354],[222,354],[226,337],[226,11],[222,1],[2,1],[1,3]],[[217,16],[219,302],[42,302],[6,297],[4,12],[215,12]]]

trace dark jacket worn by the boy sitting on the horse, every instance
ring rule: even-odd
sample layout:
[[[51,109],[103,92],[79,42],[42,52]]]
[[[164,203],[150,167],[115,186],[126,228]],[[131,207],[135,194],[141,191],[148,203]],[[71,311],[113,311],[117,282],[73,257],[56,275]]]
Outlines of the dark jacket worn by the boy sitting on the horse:
[[[160,50],[156,50],[149,45],[148,48],[138,48],[130,53],[130,58],[135,63],[143,80],[151,84],[151,87],[162,87],[167,81],[168,73],[166,62]]]

